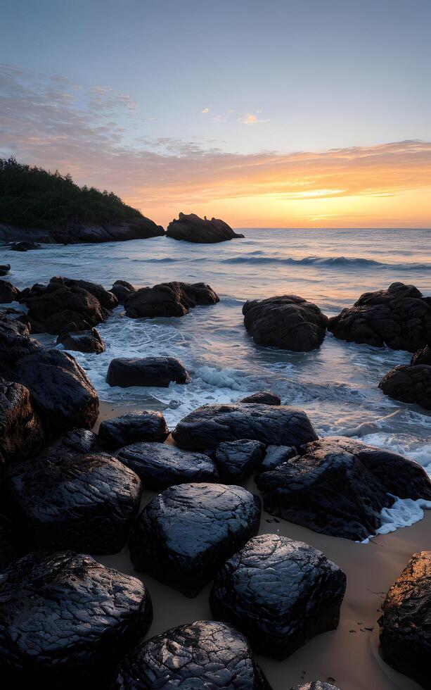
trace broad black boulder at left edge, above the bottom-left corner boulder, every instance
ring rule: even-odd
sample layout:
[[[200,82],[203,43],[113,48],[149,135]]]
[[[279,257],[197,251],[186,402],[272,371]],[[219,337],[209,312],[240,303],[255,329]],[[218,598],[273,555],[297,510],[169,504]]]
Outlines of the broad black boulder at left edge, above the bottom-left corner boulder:
[[[105,454],[47,449],[8,466],[8,502],[31,548],[117,553],[141,500],[141,482]]]

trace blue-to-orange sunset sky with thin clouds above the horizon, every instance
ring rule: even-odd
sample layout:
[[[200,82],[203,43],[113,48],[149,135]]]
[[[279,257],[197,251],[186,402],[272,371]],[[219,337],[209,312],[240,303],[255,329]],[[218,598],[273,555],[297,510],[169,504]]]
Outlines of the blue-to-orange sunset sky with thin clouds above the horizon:
[[[0,156],[167,225],[431,227],[430,0],[3,0]]]

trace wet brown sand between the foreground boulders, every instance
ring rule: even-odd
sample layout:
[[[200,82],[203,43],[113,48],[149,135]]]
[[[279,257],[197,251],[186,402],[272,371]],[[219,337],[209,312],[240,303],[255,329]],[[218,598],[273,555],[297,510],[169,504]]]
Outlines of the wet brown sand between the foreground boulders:
[[[139,409],[101,403],[98,422]],[[246,487],[259,495],[252,479]],[[153,496],[154,492],[144,491],[142,506]],[[387,589],[404,569],[411,554],[431,547],[431,512],[425,513],[425,518],[415,525],[376,537],[369,544],[326,537],[262,512],[259,533],[268,532],[306,541],[320,548],[347,575],[347,591],[337,630],[314,637],[285,661],[257,655],[274,690],[289,690],[301,682],[317,679],[328,680],[341,690],[418,690],[418,684],[394,672],[380,660],[376,650],[377,635],[373,629]],[[208,605],[210,585],[196,598],[188,599],[148,575],[135,573],[127,548],[114,556],[96,558],[105,565],[140,577],[147,584],[154,605],[154,620],[148,637],[175,625],[212,617]]]

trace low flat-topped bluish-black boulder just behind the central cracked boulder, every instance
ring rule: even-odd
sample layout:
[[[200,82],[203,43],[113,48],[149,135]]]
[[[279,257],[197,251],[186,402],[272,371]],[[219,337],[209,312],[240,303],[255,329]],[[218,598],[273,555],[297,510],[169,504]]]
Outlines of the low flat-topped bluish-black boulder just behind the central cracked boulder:
[[[118,459],[136,472],[144,489],[163,491],[174,484],[218,482],[214,461],[204,453],[181,451],[163,443],[136,443],[126,446]]]

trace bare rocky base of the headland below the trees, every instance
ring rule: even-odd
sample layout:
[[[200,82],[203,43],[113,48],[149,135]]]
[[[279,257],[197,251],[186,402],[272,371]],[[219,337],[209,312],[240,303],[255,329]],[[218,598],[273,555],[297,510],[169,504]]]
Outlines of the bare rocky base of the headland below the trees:
[[[0,223],[0,242],[44,242],[48,244],[82,244],[93,242],[125,242],[128,239],[147,239],[165,234],[161,225],[150,218],[136,217],[116,224],[101,225],[69,223],[55,230],[28,229]]]

